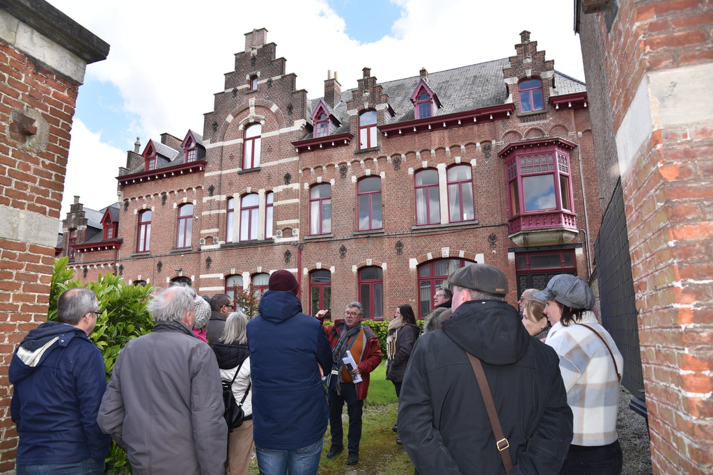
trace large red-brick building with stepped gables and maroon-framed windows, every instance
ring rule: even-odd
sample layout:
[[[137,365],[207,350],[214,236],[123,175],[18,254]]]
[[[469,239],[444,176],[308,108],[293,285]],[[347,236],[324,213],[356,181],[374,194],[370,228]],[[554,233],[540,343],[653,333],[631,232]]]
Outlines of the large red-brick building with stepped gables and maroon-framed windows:
[[[202,135],[128,152],[118,232],[68,247],[68,214],[60,247],[76,275],[189,277],[213,295],[264,289],[287,268],[306,312],[341,317],[359,300],[374,319],[404,303],[423,317],[434,287],[471,262],[505,270],[512,303],[560,272],[590,276],[600,209],[588,205],[599,191],[587,93],[528,31],[510,58],[449,71],[379,83],[364,68],[345,91],[330,72],[316,99],[265,29],[245,39]]]

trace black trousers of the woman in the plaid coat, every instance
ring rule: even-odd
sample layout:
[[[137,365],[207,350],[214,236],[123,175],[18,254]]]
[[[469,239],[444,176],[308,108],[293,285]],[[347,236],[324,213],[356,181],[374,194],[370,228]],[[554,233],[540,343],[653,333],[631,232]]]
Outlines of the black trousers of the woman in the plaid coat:
[[[572,444],[560,475],[619,475],[622,473],[622,448],[615,440],[608,445]]]

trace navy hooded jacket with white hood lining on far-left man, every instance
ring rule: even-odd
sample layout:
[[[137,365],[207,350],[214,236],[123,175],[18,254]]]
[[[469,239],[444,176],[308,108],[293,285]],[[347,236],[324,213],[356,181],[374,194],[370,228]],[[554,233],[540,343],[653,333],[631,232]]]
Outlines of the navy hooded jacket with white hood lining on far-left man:
[[[106,389],[101,352],[83,330],[45,322],[22,340],[10,362],[17,463],[103,461],[111,438],[96,422]]]

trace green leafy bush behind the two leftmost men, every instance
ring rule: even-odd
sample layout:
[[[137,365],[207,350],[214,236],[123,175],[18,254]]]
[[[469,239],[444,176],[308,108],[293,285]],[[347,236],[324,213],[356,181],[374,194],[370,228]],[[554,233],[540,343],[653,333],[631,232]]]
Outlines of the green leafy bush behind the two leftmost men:
[[[97,318],[91,339],[104,356],[107,380],[111,377],[120,349],[131,339],[151,331],[153,318],[147,309],[153,287],[130,285],[112,274],[99,275],[96,282],[82,285],[80,280],[71,280],[74,272],[67,269],[67,257],[54,263],[50,288],[47,320],[57,320],[57,299],[65,290],[86,287],[96,293],[101,315]],[[108,474],[130,473],[126,453],[112,444],[106,459]]]

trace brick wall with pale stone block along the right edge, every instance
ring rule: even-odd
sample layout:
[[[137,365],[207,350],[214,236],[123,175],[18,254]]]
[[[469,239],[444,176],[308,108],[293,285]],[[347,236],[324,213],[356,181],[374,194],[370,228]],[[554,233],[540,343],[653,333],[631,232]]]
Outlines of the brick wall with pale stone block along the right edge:
[[[645,389],[655,474],[713,473],[713,7],[575,2],[605,325]],[[607,321],[608,320],[608,321]]]

